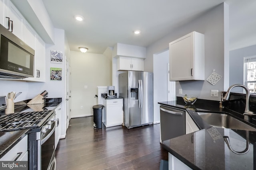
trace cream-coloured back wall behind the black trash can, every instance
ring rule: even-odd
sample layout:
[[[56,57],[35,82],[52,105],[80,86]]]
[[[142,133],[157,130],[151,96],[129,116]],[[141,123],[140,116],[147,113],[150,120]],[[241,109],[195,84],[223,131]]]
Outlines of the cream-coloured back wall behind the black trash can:
[[[98,94],[97,86],[112,84],[112,56],[70,51],[70,66],[71,117],[92,115],[92,106],[98,103],[94,98]]]

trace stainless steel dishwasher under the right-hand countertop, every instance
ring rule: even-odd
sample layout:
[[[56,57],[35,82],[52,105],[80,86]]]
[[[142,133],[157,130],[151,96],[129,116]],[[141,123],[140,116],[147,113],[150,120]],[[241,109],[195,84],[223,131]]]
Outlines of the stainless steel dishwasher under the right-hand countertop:
[[[160,143],[186,133],[186,112],[181,109],[160,105]]]

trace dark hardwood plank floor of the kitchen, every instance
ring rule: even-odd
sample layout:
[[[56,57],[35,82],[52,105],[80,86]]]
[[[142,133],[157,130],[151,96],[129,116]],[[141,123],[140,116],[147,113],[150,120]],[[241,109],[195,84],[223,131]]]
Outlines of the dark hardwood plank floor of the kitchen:
[[[168,152],[160,145],[160,124],[127,129],[93,129],[93,117],[70,120],[56,149],[56,170],[159,170]]]

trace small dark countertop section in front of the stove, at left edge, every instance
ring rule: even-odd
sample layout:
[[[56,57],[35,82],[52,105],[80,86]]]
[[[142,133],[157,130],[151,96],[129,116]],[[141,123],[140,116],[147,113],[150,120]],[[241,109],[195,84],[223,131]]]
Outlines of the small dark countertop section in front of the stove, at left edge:
[[[0,132],[0,158],[2,158],[12,147],[14,147],[21,139],[23,139],[30,129]]]

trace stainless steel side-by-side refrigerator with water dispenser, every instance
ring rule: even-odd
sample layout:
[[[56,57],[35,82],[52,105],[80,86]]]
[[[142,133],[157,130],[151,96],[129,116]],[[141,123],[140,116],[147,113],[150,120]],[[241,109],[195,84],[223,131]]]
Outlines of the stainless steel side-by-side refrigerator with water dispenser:
[[[130,129],[153,124],[153,73],[119,74],[119,96],[124,98],[124,125]]]

